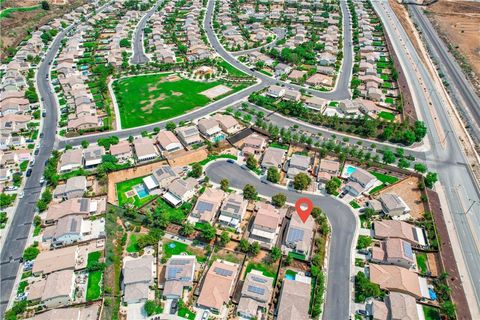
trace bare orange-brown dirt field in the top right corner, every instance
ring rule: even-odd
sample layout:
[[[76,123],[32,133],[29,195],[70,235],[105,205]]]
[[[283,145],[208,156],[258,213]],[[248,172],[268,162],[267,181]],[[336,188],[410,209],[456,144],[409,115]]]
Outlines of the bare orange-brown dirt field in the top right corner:
[[[458,47],[475,74],[480,89],[480,4],[473,1],[439,0],[427,7],[427,15],[447,43]]]

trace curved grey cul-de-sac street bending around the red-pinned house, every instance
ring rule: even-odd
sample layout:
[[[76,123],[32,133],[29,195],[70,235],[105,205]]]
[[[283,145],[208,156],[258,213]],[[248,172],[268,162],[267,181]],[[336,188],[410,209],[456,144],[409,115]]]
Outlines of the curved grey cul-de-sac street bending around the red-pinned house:
[[[357,223],[350,207],[330,196],[302,194],[262,183],[249,170],[244,170],[235,163],[214,162],[205,169],[205,174],[215,183],[220,183],[221,179],[228,179],[233,188],[243,189],[246,184],[251,184],[260,195],[266,197],[283,193],[290,203],[307,197],[313,201],[315,206],[322,208],[332,227],[323,319],[348,319],[350,314],[351,252]]]

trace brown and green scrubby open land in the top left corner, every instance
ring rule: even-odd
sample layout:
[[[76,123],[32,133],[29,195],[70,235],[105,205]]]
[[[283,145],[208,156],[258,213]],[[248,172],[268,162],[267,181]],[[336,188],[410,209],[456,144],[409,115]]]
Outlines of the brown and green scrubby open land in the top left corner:
[[[2,9],[30,7],[39,4],[40,0],[6,0],[2,3]],[[2,37],[0,40],[0,58],[6,57],[6,49],[8,47],[16,47],[22,39],[27,35],[27,30],[35,30],[36,28],[46,24],[54,18],[61,17],[72,9],[86,3],[86,0],[65,0],[65,5],[55,5],[58,1],[49,1],[50,10],[43,9],[13,12],[8,18],[0,20],[0,30]],[[61,1],[60,1],[61,2]]]

